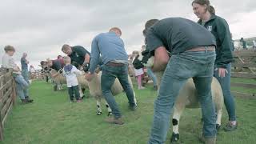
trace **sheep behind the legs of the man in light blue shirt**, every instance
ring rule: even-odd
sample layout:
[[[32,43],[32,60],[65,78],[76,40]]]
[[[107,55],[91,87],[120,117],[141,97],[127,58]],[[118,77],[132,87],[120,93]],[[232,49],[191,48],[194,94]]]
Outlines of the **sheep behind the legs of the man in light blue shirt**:
[[[98,74],[94,74],[94,78],[88,82],[89,90],[90,90],[90,95],[94,96],[97,102],[97,114],[101,115],[102,114],[102,109],[101,109],[101,99],[104,98],[102,95],[102,86],[101,86],[101,76],[102,72],[99,72]],[[128,80],[130,83],[131,88],[133,89],[133,84],[131,81],[130,76],[128,76]],[[111,92],[113,96],[122,93],[122,85],[118,81],[118,78],[115,79],[113,86],[111,87]],[[137,105],[137,101],[135,98],[135,93],[134,93],[134,102]],[[112,110],[110,109],[109,104],[106,102],[106,108],[108,110],[108,116],[112,115]]]

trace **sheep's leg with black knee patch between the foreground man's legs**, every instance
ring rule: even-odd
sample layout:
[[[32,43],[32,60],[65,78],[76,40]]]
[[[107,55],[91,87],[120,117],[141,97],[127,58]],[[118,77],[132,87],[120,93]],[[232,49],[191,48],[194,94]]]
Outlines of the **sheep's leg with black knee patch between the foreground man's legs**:
[[[174,116],[173,116],[173,120],[172,120],[173,134],[171,135],[171,138],[170,138],[171,142],[178,142],[178,139],[179,139],[179,133],[178,133],[179,119],[181,118],[182,112],[185,108],[185,106],[182,103],[179,103],[178,105],[179,106],[174,106]]]

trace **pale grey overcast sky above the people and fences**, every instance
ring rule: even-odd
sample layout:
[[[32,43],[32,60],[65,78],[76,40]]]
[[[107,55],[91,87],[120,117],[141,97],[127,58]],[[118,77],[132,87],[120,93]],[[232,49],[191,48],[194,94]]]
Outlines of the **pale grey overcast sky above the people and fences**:
[[[0,47],[16,48],[19,61],[28,53],[31,65],[57,58],[64,43],[90,51],[95,35],[112,26],[122,29],[127,53],[140,50],[142,30],[150,18],[183,17],[197,21],[192,0],[1,0]],[[255,0],[214,0],[216,14],[230,24],[234,39],[256,36]],[[64,54],[62,54],[64,55]],[[2,63],[2,58],[1,62]],[[19,62],[18,62],[19,63]]]

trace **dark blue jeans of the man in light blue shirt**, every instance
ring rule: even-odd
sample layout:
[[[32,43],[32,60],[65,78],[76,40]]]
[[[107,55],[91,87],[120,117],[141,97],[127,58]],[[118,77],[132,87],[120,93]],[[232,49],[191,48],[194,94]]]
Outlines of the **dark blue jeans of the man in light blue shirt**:
[[[114,118],[121,118],[122,115],[118,108],[118,104],[115,102],[113,94],[111,92],[111,86],[114,84],[115,78],[118,78],[123,90],[125,90],[130,106],[135,106],[134,90],[131,88],[128,81],[128,65],[102,66],[102,94],[106,99],[106,102],[110,105],[112,113],[114,114]]]

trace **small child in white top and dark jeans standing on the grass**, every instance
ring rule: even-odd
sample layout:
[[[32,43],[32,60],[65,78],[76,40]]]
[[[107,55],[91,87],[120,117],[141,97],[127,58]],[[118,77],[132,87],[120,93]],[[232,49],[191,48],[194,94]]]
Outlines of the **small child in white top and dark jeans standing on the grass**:
[[[66,77],[66,84],[68,87],[68,92],[70,94],[70,102],[74,102],[74,95],[77,102],[82,102],[78,89],[78,78],[76,74],[82,74],[75,66],[71,65],[70,57],[66,56],[63,58],[65,66],[63,70],[63,75]]]

